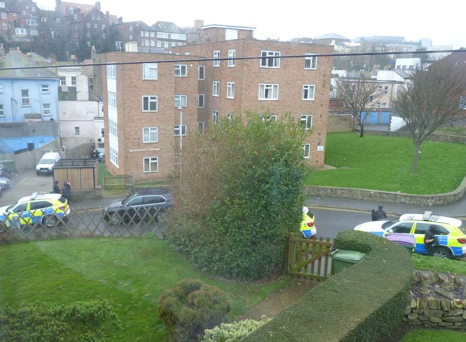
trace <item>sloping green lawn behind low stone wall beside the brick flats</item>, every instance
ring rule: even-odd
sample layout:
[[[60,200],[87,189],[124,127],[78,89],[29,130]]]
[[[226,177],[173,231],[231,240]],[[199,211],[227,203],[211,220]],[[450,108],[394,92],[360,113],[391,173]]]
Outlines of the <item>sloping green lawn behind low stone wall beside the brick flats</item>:
[[[434,194],[456,189],[466,175],[466,145],[425,141],[418,172],[409,138],[328,133],[325,164],[339,169],[312,172],[306,185]]]

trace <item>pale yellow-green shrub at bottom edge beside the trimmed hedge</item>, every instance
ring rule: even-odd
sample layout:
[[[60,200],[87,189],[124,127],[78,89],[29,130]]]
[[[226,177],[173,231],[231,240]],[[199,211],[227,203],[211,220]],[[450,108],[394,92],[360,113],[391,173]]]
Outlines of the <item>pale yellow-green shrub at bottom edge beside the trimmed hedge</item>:
[[[233,323],[221,323],[214,329],[206,330],[202,342],[239,342],[269,320],[270,318],[262,316],[262,320],[245,319]]]

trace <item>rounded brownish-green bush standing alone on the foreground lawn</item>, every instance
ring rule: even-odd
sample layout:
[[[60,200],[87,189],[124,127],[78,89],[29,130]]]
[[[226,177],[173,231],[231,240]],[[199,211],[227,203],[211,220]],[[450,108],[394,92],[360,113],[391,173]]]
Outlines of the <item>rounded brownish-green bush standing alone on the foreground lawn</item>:
[[[228,295],[200,280],[183,279],[159,297],[158,314],[172,335],[198,340],[204,330],[218,325],[231,310]]]

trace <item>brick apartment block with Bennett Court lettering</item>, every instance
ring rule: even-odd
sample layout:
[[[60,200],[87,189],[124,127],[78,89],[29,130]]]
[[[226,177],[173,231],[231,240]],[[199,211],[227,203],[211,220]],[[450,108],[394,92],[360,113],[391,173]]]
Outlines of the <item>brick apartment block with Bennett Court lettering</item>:
[[[310,166],[324,164],[328,94],[332,58],[330,46],[300,45],[253,39],[253,28],[209,25],[205,43],[174,47],[171,54],[114,52],[101,62],[151,61],[197,57],[263,56],[262,59],[107,66],[103,77],[106,166],[114,174],[133,173],[136,181],[163,179],[173,174],[182,134],[206,129],[220,117],[257,108],[272,118],[291,112],[313,133],[303,146]],[[278,56],[305,55],[279,59]],[[109,76],[110,75],[110,76]],[[151,78],[151,79],[147,79]],[[156,78],[156,79],[155,79]]]

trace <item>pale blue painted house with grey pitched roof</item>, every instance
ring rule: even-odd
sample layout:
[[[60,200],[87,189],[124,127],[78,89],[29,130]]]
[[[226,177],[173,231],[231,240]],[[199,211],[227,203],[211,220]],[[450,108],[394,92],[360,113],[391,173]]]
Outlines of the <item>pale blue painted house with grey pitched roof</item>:
[[[21,51],[10,51],[0,67],[39,66]],[[57,121],[60,77],[47,68],[0,70],[0,123]]]

